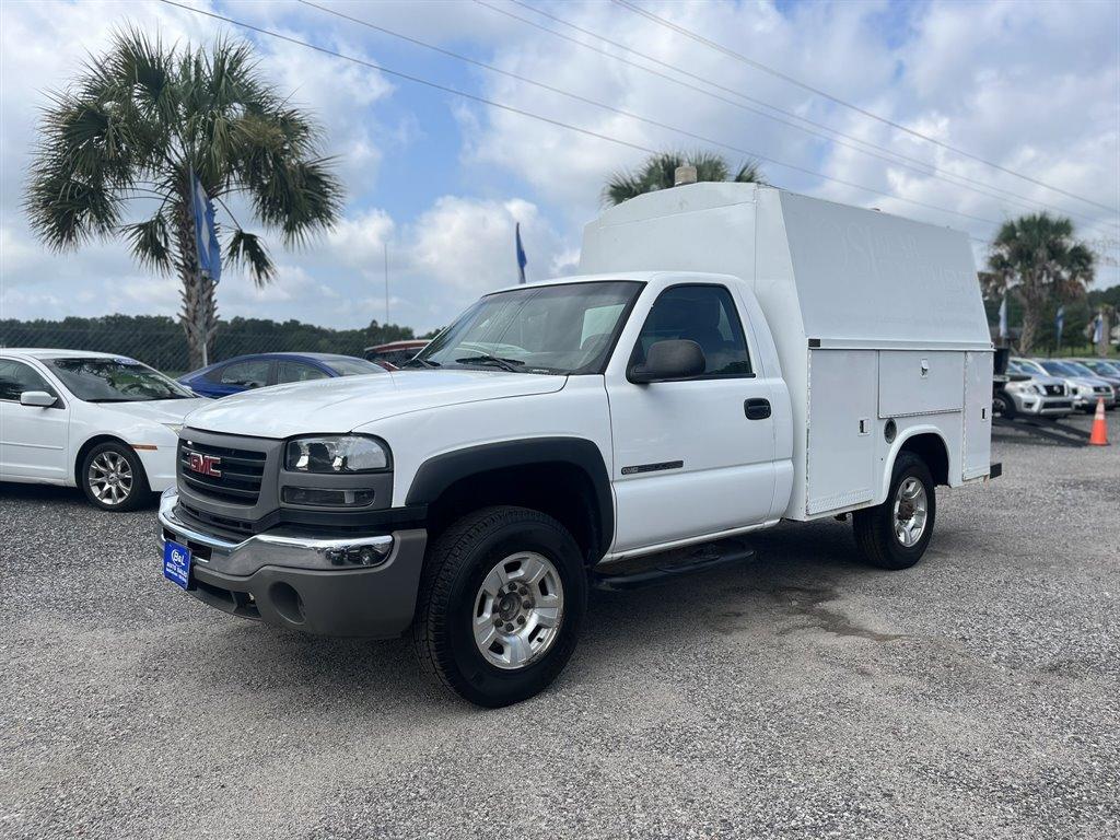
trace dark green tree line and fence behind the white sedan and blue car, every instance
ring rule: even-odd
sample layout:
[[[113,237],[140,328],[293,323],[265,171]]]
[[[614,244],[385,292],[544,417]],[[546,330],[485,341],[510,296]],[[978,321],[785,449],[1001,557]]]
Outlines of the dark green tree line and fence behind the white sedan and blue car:
[[[299,321],[234,318],[220,321],[209,362],[250,353],[339,353],[362,356],[365,347],[412,338],[412,330],[373,321],[364,329],[329,329]],[[66,318],[62,321],[0,320],[0,347],[50,347],[127,356],[178,376],[192,370],[183,327],[158,316]]]

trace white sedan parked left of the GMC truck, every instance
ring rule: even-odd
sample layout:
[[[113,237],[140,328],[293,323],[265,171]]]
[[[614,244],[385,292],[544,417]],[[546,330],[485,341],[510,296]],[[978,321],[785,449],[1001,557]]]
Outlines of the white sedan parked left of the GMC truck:
[[[131,358],[0,349],[0,480],[128,511],[175,485],[183,419],[209,400]]]

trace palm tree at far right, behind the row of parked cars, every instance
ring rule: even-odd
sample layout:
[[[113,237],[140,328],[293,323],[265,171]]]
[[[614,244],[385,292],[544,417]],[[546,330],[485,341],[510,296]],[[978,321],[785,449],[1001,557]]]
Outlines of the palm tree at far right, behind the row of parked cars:
[[[1019,353],[1027,354],[1051,298],[1073,300],[1093,281],[1093,252],[1073,240],[1068,218],[1037,213],[1005,222],[982,274],[989,293],[1010,290],[1023,304]]]

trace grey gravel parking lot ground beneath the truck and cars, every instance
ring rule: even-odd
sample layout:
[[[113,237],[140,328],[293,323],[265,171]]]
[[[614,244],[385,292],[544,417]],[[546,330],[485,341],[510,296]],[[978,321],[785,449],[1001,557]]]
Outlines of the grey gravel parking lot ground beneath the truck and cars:
[[[1076,422],[1088,428],[1088,419]],[[484,711],[405,640],[307,638],[161,578],[153,510],[0,487],[0,837],[1120,836],[1120,414],[999,436],[905,572],[788,525],[743,570],[596,595]]]

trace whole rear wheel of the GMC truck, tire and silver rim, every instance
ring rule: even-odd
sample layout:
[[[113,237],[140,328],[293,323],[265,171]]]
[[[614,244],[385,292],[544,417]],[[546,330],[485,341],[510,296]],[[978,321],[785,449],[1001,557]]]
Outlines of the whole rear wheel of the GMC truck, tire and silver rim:
[[[913,452],[899,452],[886,501],[852,514],[856,545],[872,566],[908,569],[930,545],[936,514],[930,468]]]

